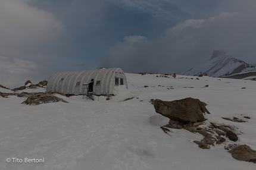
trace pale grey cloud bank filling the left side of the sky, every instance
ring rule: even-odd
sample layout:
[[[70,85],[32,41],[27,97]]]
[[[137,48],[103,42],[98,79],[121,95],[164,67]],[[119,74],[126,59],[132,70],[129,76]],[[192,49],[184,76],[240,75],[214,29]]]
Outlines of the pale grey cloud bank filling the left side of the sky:
[[[0,84],[11,88],[18,86],[21,79],[22,83],[29,79],[40,80],[38,71],[47,63],[43,58],[54,58],[45,55],[58,53],[56,44],[65,31],[54,15],[31,7],[27,2],[0,2]]]

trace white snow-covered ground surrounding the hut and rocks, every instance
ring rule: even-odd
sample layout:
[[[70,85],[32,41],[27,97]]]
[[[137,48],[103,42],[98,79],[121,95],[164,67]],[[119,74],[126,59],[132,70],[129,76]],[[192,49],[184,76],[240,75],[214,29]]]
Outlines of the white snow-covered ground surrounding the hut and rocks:
[[[242,132],[236,143],[256,150],[256,81],[213,77],[196,80],[183,75],[126,77],[129,91],[117,90],[118,95],[111,100],[104,96],[95,96],[92,101],[58,95],[68,103],[29,106],[21,104],[26,98],[0,97],[0,169],[256,168],[255,163],[233,159],[224,144],[200,149],[193,143],[203,138],[200,134],[172,130],[168,136],[160,128],[168,118],[157,114],[149,102],[198,98],[208,104],[208,121],[235,125]],[[134,98],[123,101],[130,97]],[[231,122],[221,118],[244,116],[251,119]],[[25,158],[34,163],[25,163]]]

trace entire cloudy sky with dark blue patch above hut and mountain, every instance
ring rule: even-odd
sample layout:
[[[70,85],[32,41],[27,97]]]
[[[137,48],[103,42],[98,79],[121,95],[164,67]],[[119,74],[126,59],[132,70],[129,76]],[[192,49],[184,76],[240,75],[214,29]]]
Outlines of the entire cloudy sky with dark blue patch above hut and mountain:
[[[182,73],[214,50],[256,62],[255,0],[1,0],[0,84],[120,67]]]

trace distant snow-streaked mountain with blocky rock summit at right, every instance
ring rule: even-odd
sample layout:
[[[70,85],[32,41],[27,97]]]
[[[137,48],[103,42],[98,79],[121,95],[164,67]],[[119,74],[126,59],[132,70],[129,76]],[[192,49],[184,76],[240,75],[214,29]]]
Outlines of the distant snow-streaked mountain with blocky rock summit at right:
[[[209,76],[219,77],[255,70],[254,65],[226,55],[225,51],[220,50],[214,51],[209,61],[191,68],[183,75],[208,74]]]

